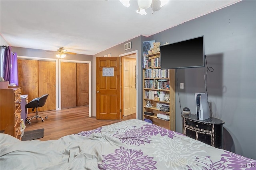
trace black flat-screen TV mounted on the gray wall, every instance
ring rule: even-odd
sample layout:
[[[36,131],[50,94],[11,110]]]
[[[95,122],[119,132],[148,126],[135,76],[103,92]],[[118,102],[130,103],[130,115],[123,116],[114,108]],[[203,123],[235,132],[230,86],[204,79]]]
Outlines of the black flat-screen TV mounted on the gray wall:
[[[204,67],[204,36],[160,46],[161,69]]]

